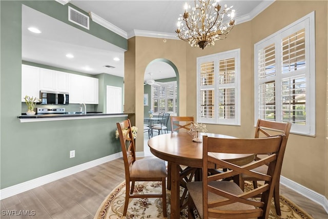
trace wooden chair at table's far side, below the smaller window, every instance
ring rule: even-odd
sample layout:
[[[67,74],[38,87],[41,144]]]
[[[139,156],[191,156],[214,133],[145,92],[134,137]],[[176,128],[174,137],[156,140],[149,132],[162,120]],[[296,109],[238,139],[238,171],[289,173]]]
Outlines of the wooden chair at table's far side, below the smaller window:
[[[189,131],[190,125],[194,122],[194,116],[170,116],[171,119],[171,132]],[[180,166],[180,184],[183,188],[186,188],[187,182],[190,182],[193,178],[197,168],[181,167]],[[168,162],[168,189],[171,189],[171,163]],[[187,190],[185,190],[187,192]],[[182,197],[186,194],[182,194]],[[183,199],[183,198],[182,198]],[[183,201],[183,200],[182,200]],[[187,204],[186,204],[187,205]]]

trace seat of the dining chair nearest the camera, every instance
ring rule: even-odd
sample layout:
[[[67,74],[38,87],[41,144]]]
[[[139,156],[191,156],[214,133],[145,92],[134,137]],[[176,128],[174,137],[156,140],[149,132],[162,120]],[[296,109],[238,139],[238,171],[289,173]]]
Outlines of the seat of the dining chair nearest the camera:
[[[219,188],[223,191],[235,194],[235,195],[239,195],[242,194],[243,191],[240,189],[240,187],[233,183],[233,182],[228,182],[228,181],[214,181],[214,182],[210,182],[209,185],[215,187],[215,188]],[[187,188],[189,191],[189,195],[192,197],[194,204],[197,208],[197,211],[199,213],[199,216],[201,218],[203,218],[203,188],[202,188],[202,182],[191,182],[191,183],[187,183]],[[222,197],[220,195],[216,195],[212,192],[208,193],[208,200],[209,202],[213,202],[213,201],[219,201],[219,200],[224,200],[226,199],[225,197]],[[242,203],[232,203],[230,205],[224,205],[224,206],[220,206],[220,207],[216,207],[214,209],[218,209],[218,210],[251,210],[251,209],[255,209],[254,206],[250,206],[250,205],[246,205],[246,204],[242,204]]]

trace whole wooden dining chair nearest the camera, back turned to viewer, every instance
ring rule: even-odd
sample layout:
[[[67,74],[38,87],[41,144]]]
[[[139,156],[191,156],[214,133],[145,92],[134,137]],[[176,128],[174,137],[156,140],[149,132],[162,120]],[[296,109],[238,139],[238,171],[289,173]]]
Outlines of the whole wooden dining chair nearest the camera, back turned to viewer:
[[[203,136],[202,169],[207,170],[217,165],[227,168],[227,171],[214,175],[202,171],[202,182],[187,184],[188,218],[193,218],[194,208],[201,218],[268,218],[274,187],[282,165],[285,141],[285,135],[251,139]],[[271,155],[254,163],[238,166],[227,160],[217,159],[215,153]],[[252,171],[263,164],[269,165],[265,174]],[[258,188],[244,192],[233,181],[224,181],[240,173],[259,178],[264,183]]]

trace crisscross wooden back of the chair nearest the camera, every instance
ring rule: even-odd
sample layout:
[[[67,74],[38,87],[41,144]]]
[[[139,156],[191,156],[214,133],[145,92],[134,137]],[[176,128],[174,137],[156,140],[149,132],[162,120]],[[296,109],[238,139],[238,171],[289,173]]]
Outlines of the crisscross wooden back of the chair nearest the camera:
[[[277,182],[276,179],[280,174],[279,171],[282,165],[285,141],[286,136],[284,134],[273,137],[251,139],[227,139],[203,136],[203,170],[207,170],[211,163],[228,169],[227,172],[217,173],[210,176],[207,171],[203,171],[203,218],[267,218],[270,211],[271,198],[273,197],[275,183]],[[271,155],[252,164],[243,166],[219,160],[213,156],[213,153],[256,154],[258,152]],[[254,167],[262,166],[263,164],[269,166],[267,174],[255,173],[251,170]],[[215,181],[224,180],[229,176],[239,175],[240,173],[256,175],[256,177],[259,177],[264,181],[264,184],[251,191],[240,194],[234,194],[233,192],[225,191],[223,188],[213,187],[211,185],[212,182],[215,183]],[[210,193],[219,195],[222,198],[209,202],[208,197]],[[252,198],[258,196],[261,197],[260,200]],[[230,210],[223,210],[222,206],[231,204],[236,204],[237,206],[253,206],[253,209],[231,208]]]

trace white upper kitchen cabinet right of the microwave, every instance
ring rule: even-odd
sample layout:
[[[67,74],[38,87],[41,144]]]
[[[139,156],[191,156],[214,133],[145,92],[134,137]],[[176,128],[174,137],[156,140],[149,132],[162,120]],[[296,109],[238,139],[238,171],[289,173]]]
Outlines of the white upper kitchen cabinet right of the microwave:
[[[98,104],[98,78],[69,74],[70,103]]]

